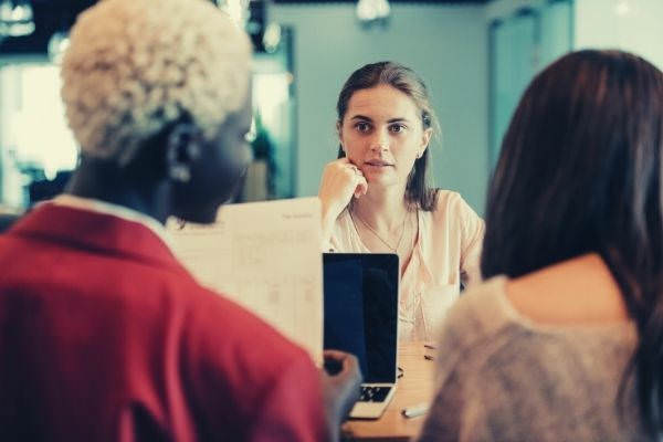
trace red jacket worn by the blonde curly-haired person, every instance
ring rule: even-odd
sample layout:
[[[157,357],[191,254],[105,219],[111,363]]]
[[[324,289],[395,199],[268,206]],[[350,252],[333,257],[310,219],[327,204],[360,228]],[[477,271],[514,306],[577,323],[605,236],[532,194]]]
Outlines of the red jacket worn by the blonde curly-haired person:
[[[318,441],[307,354],[143,224],[43,204],[0,235],[0,440]]]

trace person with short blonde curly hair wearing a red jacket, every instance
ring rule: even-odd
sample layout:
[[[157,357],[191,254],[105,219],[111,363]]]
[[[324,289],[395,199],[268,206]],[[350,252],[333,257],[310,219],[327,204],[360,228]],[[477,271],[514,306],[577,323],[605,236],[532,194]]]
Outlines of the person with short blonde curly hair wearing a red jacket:
[[[251,48],[202,0],[104,0],[71,33],[65,194],[0,238],[4,440],[336,439],[360,375],[307,354],[175,259],[251,159]]]

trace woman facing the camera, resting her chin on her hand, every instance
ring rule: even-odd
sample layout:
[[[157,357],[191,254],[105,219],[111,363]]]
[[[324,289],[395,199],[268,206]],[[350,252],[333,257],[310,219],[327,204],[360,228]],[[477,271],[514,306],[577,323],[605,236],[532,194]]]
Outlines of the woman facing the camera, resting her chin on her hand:
[[[483,221],[460,194],[428,185],[439,125],[413,71],[367,64],[344,85],[337,112],[339,159],[319,189],[325,250],[397,253],[399,337],[432,339],[461,284],[480,278]]]

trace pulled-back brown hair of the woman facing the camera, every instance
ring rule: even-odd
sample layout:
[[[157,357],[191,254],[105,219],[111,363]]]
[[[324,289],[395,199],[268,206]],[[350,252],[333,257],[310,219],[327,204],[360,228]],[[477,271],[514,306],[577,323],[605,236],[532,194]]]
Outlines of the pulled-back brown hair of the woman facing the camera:
[[[352,72],[338,95],[338,103],[336,105],[338,123],[343,124],[343,118],[348,109],[348,103],[355,92],[369,90],[380,84],[390,85],[412,98],[421,112],[423,128],[432,129],[433,137],[439,134],[440,124],[431,106],[425,84],[414,71],[394,62],[367,64]],[[406,200],[419,209],[433,211],[435,210],[438,191],[436,189],[431,189],[429,185],[429,150],[425,149],[423,155],[414,160],[414,167],[408,177],[406,186]],[[339,147],[338,158],[343,157],[345,157],[345,152]]]

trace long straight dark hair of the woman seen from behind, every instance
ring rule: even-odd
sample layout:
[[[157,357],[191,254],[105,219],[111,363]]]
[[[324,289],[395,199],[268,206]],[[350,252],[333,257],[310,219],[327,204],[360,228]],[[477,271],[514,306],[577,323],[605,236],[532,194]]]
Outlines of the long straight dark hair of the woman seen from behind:
[[[555,62],[532,82],[504,137],[482,257],[485,277],[515,277],[602,256],[638,326],[630,368],[655,436],[663,429],[662,136],[663,74],[652,64],[619,51]]]

